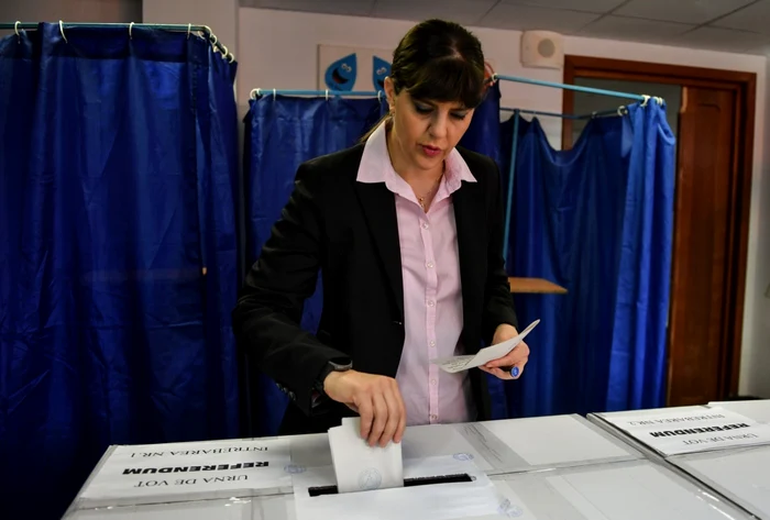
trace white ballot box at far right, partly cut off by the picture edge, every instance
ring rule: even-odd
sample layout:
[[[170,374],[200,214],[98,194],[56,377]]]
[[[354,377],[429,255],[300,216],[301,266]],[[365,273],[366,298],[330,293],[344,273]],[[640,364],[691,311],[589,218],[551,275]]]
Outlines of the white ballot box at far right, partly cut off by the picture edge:
[[[756,518],[770,518],[770,400],[588,416]]]

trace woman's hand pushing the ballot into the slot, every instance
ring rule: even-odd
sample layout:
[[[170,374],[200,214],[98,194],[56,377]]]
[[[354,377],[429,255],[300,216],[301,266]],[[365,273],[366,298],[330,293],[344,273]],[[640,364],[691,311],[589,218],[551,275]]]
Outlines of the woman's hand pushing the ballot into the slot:
[[[402,442],[406,407],[396,379],[356,370],[332,372],[323,380],[323,391],[361,416],[361,438],[370,446]]]

